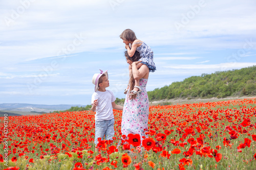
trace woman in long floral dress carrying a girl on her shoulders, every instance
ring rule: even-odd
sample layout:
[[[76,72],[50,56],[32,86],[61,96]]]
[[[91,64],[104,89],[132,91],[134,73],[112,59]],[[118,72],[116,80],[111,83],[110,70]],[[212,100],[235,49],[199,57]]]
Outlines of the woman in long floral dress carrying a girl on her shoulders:
[[[130,57],[126,52],[125,57],[128,64],[132,66],[132,74],[130,78],[130,89],[126,94],[126,98],[123,106],[122,114],[122,135],[139,134],[142,141],[142,136],[147,137],[145,132],[147,131],[149,103],[146,92],[146,83],[150,70],[143,64],[140,68],[137,68],[137,64],[140,62],[140,54],[137,52],[133,57]],[[130,90],[134,88],[135,80],[139,80],[142,91],[129,95]]]

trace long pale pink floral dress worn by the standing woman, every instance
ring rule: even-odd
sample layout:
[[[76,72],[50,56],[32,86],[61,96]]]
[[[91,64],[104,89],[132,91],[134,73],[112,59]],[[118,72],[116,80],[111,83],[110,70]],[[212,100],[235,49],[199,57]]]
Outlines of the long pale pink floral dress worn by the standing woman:
[[[137,93],[135,99],[130,100],[128,91],[123,106],[122,114],[122,127],[121,132],[123,135],[139,134],[142,141],[142,136],[147,137],[149,103],[146,92],[147,79],[140,79],[140,87],[142,91]]]

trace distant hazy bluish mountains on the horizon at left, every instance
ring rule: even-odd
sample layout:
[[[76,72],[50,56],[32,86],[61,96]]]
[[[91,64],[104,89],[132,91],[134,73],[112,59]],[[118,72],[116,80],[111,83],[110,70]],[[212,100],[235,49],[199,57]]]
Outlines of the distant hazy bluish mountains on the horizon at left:
[[[49,112],[54,110],[67,110],[71,107],[85,105],[39,105],[39,104],[26,104],[26,103],[2,103],[0,110],[15,110],[15,111],[36,111],[36,112]]]

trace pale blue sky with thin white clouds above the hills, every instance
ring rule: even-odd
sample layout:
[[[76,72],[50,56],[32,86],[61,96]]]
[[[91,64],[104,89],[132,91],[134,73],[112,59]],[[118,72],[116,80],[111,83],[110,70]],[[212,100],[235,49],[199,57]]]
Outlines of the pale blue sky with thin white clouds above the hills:
[[[157,70],[147,91],[191,76],[256,65],[254,0],[12,0],[0,2],[0,103],[89,105],[108,70],[116,98],[129,79],[132,29]]]

